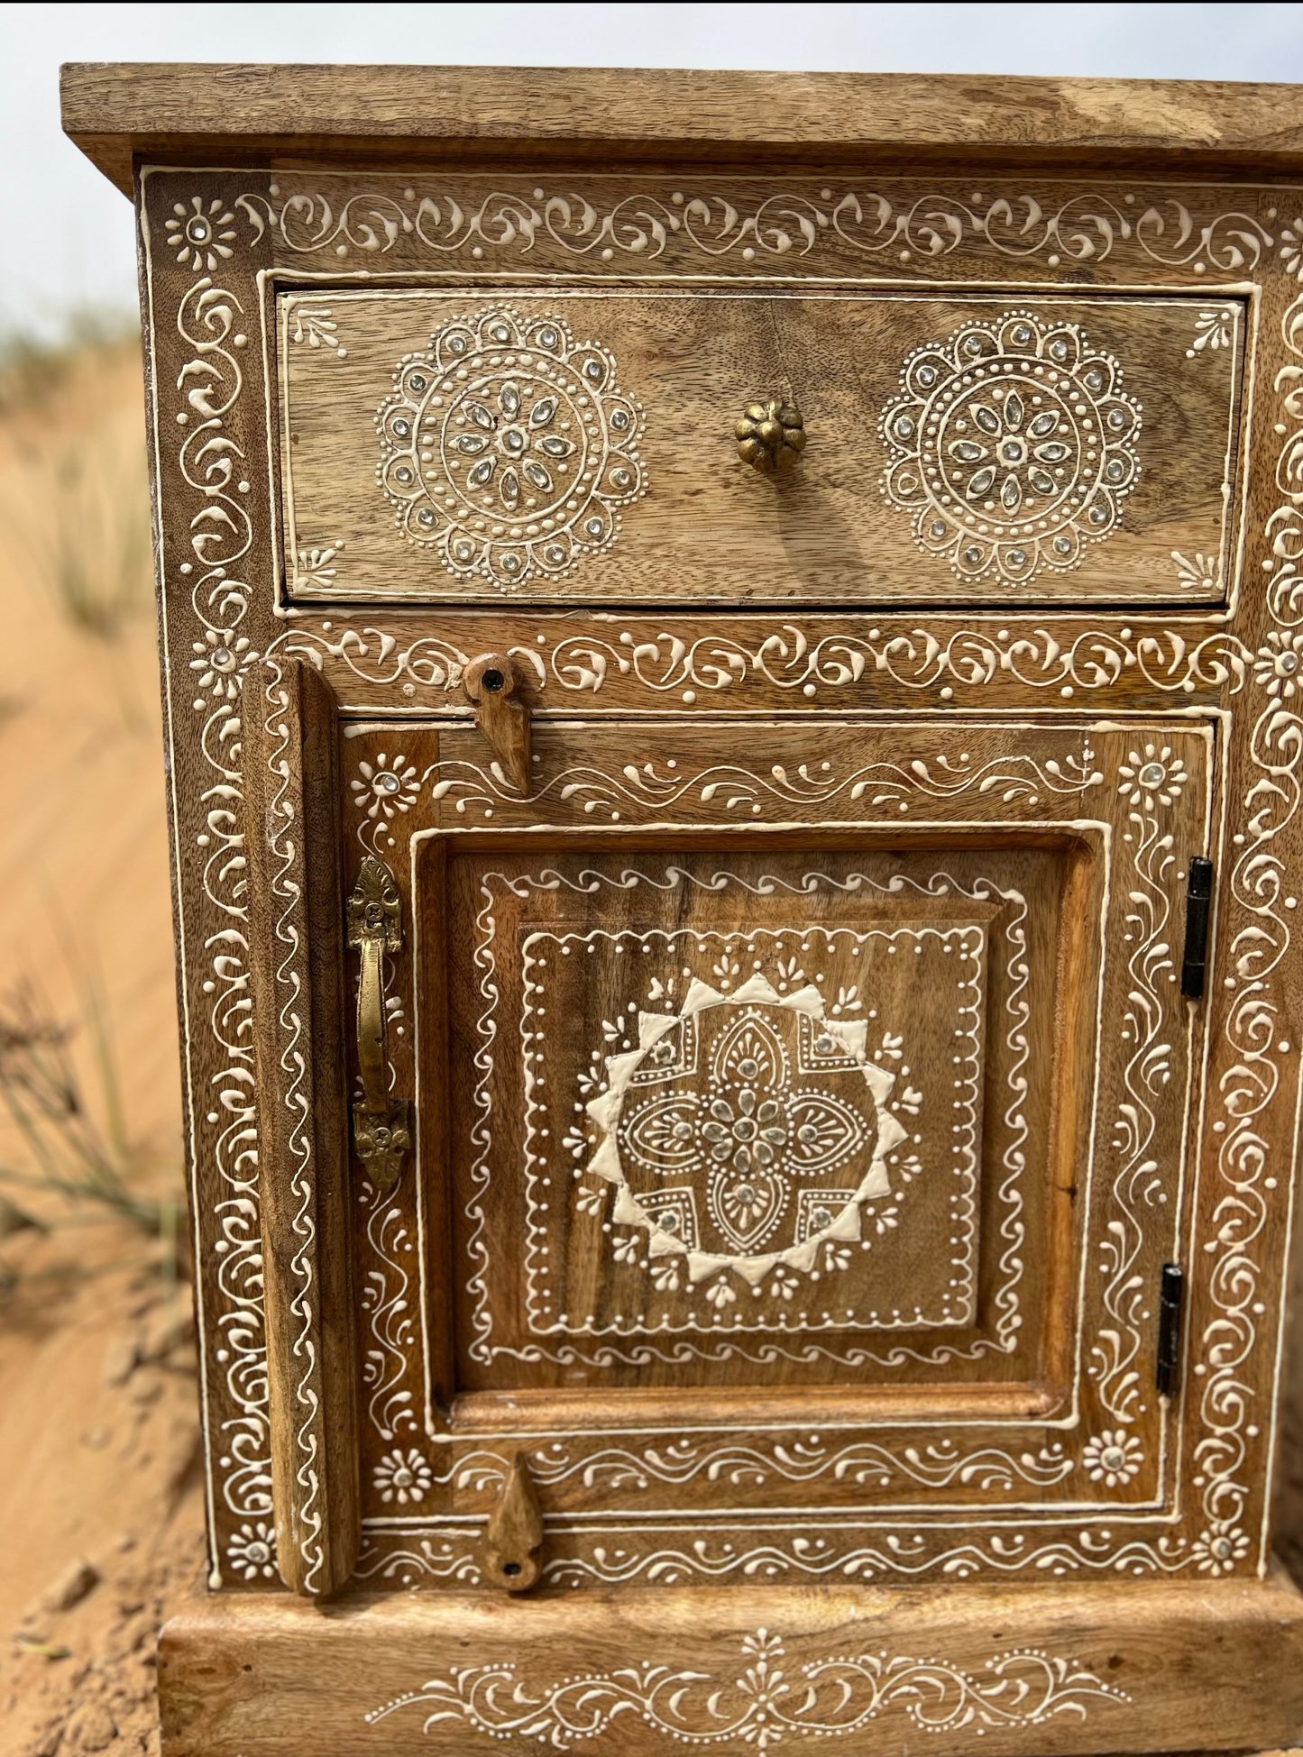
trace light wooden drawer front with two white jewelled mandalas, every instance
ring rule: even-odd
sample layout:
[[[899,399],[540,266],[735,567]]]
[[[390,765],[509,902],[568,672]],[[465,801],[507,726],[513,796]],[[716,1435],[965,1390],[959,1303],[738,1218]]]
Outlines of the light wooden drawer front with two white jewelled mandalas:
[[[1219,603],[1247,300],[285,292],[285,596]],[[763,474],[737,423],[800,411]],[[793,452],[795,460],[795,452]]]

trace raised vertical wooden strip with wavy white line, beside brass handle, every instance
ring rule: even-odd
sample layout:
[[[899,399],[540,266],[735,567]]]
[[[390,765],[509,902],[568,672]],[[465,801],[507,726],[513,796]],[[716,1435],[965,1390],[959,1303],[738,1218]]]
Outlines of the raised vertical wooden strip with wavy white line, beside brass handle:
[[[336,701],[274,659],[241,719],[276,1558],[327,1595],[359,1546]]]

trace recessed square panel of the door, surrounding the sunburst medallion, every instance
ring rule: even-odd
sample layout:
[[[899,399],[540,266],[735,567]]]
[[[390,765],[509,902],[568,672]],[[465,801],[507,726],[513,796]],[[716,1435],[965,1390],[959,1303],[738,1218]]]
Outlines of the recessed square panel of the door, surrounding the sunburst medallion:
[[[1029,1072],[1022,1026],[1074,861],[946,856],[450,856],[452,1030],[492,1028],[452,1130],[462,1390],[1036,1376],[997,1258],[1045,1225],[1055,1044]]]

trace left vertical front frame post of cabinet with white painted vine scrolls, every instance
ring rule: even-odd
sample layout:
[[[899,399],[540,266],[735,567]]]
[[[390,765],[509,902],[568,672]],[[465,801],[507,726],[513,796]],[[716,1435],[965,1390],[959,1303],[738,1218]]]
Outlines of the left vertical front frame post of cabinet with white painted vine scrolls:
[[[239,680],[274,641],[257,241],[241,172],[139,176],[146,420],[172,845],[209,1587],[267,1588],[276,1537],[258,1223]],[[207,248],[199,230],[213,227]],[[220,246],[220,249],[218,249]]]

